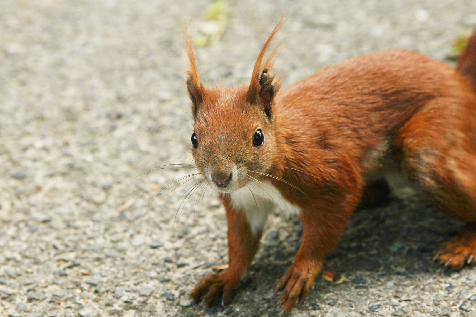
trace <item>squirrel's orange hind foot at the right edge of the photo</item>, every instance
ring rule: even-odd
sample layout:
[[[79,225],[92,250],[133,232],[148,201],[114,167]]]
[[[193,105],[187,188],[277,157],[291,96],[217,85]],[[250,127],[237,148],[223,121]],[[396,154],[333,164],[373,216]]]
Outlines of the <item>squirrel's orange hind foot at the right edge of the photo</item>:
[[[443,249],[435,252],[433,258],[452,269],[461,269],[465,264],[475,262],[476,223],[467,224],[455,237],[443,243]]]

